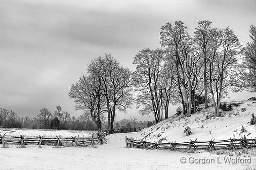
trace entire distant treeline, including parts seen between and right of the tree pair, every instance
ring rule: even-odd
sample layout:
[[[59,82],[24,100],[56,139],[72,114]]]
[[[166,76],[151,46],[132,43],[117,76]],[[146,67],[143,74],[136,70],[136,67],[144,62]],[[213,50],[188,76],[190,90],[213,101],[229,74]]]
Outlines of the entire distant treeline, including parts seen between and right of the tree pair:
[[[102,130],[107,130],[106,117],[101,116]],[[115,121],[114,128],[146,128],[155,124],[154,121],[137,121],[136,118]],[[63,130],[97,130],[88,112],[83,112],[79,117],[70,116],[67,111],[57,106],[54,114],[48,108],[42,108],[37,117],[18,117],[16,112],[0,108],[0,128],[27,128],[27,129],[63,129]]]

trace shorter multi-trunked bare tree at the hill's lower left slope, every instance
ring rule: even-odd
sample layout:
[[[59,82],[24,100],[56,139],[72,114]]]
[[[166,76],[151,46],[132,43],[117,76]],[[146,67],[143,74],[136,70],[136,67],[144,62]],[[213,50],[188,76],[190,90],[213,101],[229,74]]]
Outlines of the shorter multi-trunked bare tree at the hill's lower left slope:
[[[137,108],[141,115],[154,114],[158,123],[168,118],[170,93],[173,89],[172,66],[165,60],[165,51],[161,49],[143,49],[136,54],[134,62],[135,91]]]

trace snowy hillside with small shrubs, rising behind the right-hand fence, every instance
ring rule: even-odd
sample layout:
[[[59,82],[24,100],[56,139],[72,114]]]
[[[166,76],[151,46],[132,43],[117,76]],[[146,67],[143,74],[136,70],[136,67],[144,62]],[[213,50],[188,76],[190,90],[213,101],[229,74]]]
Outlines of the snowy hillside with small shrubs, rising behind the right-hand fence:
[[[149,142],[158,142],[163,139],[162,143],[166,143],[172,141],[186,142],[196,138],[198,138],[197,141],[222,140],[230,137],[241,138],[244,135],[246,139],[255,138],[256,126],[250,125],[249,121],[251,114],[256,114],[256,102],[241,101],[236,103],[240,103],[240,105],[233,105],[233,109],[230,111],[220,109],[222,117],[214,116],[214,107],[202,109],[190,117],[173,116],[157,125],[143,129],[135,139],[143,139]],[[192,131],[189,136],[183,133],[187,126]],[[242,126],[246,129],[245,132],[241,132]]]

